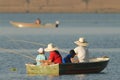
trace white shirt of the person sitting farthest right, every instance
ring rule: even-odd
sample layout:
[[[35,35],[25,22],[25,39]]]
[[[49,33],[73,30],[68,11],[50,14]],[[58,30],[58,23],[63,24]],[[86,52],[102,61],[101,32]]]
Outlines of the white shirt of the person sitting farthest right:
[[[87,62],[89,59],[88,48],[83,46],[78,46],[74,49],[77,54],[79,62]]]

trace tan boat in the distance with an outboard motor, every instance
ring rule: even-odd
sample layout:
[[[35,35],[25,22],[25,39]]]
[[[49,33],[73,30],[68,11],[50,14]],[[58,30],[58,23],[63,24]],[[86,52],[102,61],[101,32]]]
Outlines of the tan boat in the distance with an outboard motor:
[[[55,23],[46,23],[46,24],[10,21],[10,24],[18,28],[57,28],[59,26],[59,21],[56,21]]]

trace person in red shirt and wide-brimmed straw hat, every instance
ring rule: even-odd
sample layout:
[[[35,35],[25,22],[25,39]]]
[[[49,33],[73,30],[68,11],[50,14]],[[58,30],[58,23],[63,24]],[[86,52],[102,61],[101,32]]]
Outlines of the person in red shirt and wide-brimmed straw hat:
[[[58,51],[58,48],[55,47],[52,43],[48,44],[47,48],[45,48],[46,52],[49,52],[49,57],[48,57],[48,64],[49,63],[54,63],[54,64],[60,64],[62,63],[62,56]]]

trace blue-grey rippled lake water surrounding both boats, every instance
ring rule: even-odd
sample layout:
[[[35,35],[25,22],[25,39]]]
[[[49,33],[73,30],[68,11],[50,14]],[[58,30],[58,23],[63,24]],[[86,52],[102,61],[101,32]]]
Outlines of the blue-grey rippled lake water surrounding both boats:
[[[9,21],[42,23],[60,21],[59,28],[16,28]],[[0,14],[0,80],[119,80],[120,14]],[[85,37],[90,57],[109,56],[108,66],[98,74],[28,76],[25,64],[35,62],[37,49],[54,43],[62,56]],[[46,53],[48,56],[48,53]],[[31,57],[32,56],[32,57]]]

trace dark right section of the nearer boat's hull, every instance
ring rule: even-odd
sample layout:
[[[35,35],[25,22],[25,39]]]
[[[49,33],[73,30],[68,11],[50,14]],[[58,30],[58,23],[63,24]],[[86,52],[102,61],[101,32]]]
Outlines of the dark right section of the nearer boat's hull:
[[[85,74],[85,73],[99,73],[106,66],[108,61],[91,62],[91,63],[76,63],[76,64],[60,64],[59,74]]]

